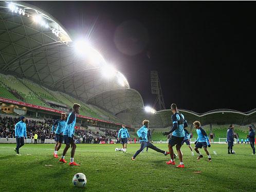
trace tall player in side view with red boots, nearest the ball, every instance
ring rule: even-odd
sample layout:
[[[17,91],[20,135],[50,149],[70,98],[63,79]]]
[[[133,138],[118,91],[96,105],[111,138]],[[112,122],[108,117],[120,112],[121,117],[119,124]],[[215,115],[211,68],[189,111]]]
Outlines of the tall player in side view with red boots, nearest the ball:
[[[71,113],[69,113],[69,116],[67,117],[67,121],[66,121],[64,131],[63,131],[64,143],[66,144],[66,146],[63,150],[60,162],[63,162],[63,163],[67,162],[64,158],[65,158],[67,150],[69,149],[69,147],[71,145],[71,157],[70,157],[69,165],[79,165],[76,162],[74,162],[75,151],[77,148],[77,145],[76,145],[76,142],[74,139],[74,133],[75,133],[75,125],[76,125],[76,121],[77,121],[76,114],[79,114],[79,109],[80,109],[80,105],[75,103],[73,105],[73,111]]]

